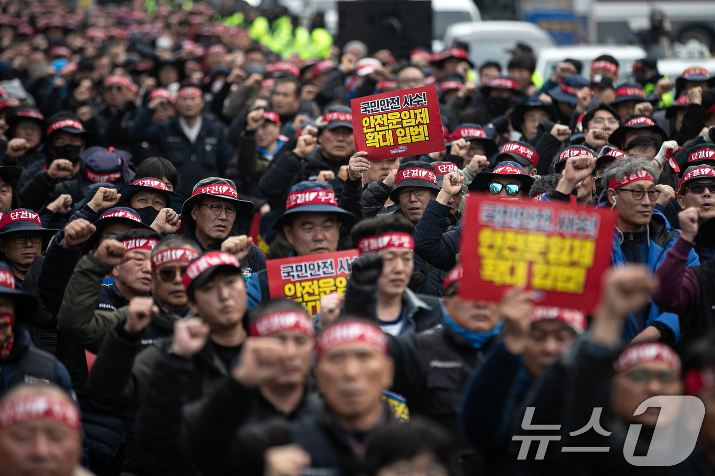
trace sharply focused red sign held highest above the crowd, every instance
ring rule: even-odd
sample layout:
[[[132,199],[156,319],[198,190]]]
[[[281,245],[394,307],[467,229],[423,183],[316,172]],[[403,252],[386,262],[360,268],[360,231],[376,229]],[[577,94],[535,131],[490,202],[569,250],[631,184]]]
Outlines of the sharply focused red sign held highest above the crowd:
[[[392,91],[350,101],[355,151],[368,160],[445,150],[437,86]]]

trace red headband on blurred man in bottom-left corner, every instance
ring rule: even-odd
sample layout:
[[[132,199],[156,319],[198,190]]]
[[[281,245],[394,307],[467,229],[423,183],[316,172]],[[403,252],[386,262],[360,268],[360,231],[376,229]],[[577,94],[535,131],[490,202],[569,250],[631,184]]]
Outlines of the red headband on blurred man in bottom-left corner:
[[[79,431],[77,405],[56,395],[19,395],[0,405],[0,430],[32,420],[53,420]]]

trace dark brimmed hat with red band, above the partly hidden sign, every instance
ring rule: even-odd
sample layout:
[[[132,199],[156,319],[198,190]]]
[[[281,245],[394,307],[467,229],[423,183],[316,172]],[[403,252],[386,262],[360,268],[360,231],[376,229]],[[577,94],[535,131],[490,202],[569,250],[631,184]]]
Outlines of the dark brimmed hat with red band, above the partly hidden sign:
[[[285,200],[285,212],[273,224],[276,231],[282,230],[287,218],[295,213],[337,213],[342,222],[355,219],[355,215],[337,206],[335,190],[330,184],[305,180],[290,187]]]

